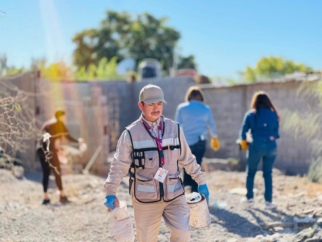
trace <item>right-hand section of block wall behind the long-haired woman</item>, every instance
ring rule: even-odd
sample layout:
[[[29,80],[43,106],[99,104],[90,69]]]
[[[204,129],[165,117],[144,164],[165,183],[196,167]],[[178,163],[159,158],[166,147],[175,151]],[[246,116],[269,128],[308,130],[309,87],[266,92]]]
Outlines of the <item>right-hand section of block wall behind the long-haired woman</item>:
[[[244,113],[249,110],[251,98],[256,91],[266,91],[281,115],[279,129],[280,139],[277,140],[278,156],[274,166],[287,174],[303,174],[307,171],[312,157],[308,142],[303,138],[296,138],[294,130],[283,129],[284,111],[298,111],[302,115],[312,110],[317,110],[317,102],[308,100],[307,97],[298,95],[298,87],[301,82],[258,83],[252,85],[240,85],[215,88],[202,85],[206,96],[206,103],[211,107],[216,121],[221,149],[213,152],[207,149],[206,157],[238,157],[244,162],[245,153],[239,151],[234,145],[239,137]],[[314,102],[315,101],[315,102]]]

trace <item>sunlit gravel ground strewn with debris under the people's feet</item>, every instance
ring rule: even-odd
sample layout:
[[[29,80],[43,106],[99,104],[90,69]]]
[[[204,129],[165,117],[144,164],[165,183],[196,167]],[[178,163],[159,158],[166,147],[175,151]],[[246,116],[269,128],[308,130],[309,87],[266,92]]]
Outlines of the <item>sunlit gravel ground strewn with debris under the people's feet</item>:
[[[310,183],[303,177],[284,176],[275,170],[273,201],[278,208],[265,210],[261,176],[258,172],[255,178],[255,206],[247,209],[240,203],[244,197],[242,194],[229,192],[232,188],[245,186],[245,173],[214,171],[208,174],[210,204],[218,200],[226,207],[211,206],[213,223],[206,228],[193,229],[190,241],[254,241],[257,235],[273,234],[274,231],[262,229],[265,223],[292,222],[293,217],[303,210],[322,207],[321,185]],[[16,179],[10,171],[0,169],[0,241],[115,241],[109,225],[109,211],[103,205],[104,177],[62,176],[65,193],[72,202],[61,205],[51,176],[48,189],[51,205],[47,206],[41,205],[41,173],[26,174],[26,177]],[[128,213],[133,220],[126,181],[117,196],[128,204]],[[291,229],[279,233],[288,240],[294,237]],[[162,222],[158,241],[168,241],[169,236]]]

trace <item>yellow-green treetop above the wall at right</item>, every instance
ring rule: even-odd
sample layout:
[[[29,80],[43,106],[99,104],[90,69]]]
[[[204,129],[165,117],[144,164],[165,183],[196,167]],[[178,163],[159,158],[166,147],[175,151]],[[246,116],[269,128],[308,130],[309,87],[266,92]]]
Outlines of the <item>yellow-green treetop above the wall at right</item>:
[[[254,83],[265,79],[281,77],[295,71],[310,72],[313,69],[305,66],[303,63],[297,65],[292,60],[287,60],[282,57],[263,56],[257,62],[256,68],[246,66],[246,71],[242,74],[246,82]]]

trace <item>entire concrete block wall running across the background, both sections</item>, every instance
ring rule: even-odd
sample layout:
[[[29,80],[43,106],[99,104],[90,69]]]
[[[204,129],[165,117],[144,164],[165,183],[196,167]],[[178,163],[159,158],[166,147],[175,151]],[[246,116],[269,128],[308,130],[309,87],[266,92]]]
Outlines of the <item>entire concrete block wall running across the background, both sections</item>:
[[[53,116],[57,109],[66,111],[66,125],[71,135],[87,139],[89,155],[85,157],[85,160],[89,160],[90,154],[95,151],[99,143],[104,143],[105,151],[115,150],[121,132],[141,114],[137,102],[143,86],[154,84],[163,89],[167,101],[163,115],[174,119],[175,110],[178,104],[184,102],[186,91],[190,86],[195,85],[189,77],[147,79],[135,83],[124,81],[51,83],[48,80],[37,78],[35,73],[16,76],[12,82],[22,90],[41,94],[29,99],[40,121],[39,127]],[[205,156],[208,158],[238,157],[245,161],[245,152],[239,151],[235,140],[239,136],[242,118],[249,109],[253,94],[264,90],[268,92],[282,117],[279,131],[281,138],[277,141],[278,156],[275,166],[288,174],[306,172],[312,156],[308,142],[295,138],[293,131],[283,129],[283,120],[287,118],[283,116],[286,109],[298,111],[302,115],[321,111],[316,98],[298,95],[300,85],[300,81],[230,87],[200,85],[205,94],[205,104],[209,105],[213,111],[221,143],[221,149],[218,152],[212,151],[208,144]],[[105,101],[99,102],[98,100]],[[26,168],[35,168],[39,163],[35,162],[33,149],[35,141],[28,141],[28,145],[31,149],[19,156],[24,158]],[[99,164],[104,166],[106,154],[99,159],[103,159],[99,161]],[[99,167],[96,170],[99,170]]]

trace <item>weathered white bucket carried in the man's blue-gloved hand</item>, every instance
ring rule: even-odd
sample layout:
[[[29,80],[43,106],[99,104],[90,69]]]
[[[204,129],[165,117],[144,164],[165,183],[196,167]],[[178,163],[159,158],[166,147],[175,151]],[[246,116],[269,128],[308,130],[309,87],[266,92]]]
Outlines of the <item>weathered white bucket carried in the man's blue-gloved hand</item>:
[[[186,196],[186,201],[190,209],[189,224],[191,228],[204,228],[211,224],[211,217],[209,214],[207,200],[204,196],[202,196],[201,199],[194,199],[194,201],[188,200],[190,197],[196,196],[197,195],[195,195],[194,193]]]

